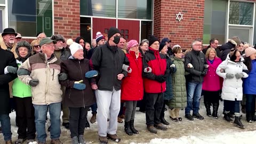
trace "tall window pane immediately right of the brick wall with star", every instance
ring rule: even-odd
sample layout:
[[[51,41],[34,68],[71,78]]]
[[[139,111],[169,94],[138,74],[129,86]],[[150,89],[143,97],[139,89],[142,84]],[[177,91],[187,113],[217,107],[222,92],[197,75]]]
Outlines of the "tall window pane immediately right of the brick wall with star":
[[[225,43],[227,1],[205,0],[203,44],[218,38],[219,44]]]

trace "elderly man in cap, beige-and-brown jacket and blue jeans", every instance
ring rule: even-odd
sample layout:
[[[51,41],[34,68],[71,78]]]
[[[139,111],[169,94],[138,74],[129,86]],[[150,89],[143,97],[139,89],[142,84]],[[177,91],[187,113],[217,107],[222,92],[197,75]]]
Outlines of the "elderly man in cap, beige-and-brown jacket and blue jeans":
[[[18,69],[19,79],[31,86],[35,108],[35,123],[38,143],[46,143],[45,119],[47,107],[51,118],[51,143],[62,143],[60,138],[61,95],[59,78],[61,60],[55,57],[54,44],[50,38],[43,38],[39,45],[42,53],[29,57]],[[59,77],[59,74],[61,75]],[[65,77],[65,76],[64,76]],[[66,76],[67,77],[67,76]]]

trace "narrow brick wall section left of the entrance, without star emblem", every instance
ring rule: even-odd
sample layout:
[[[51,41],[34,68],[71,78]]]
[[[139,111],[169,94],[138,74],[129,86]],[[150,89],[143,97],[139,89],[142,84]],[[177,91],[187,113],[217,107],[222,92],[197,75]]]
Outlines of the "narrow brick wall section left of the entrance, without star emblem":
[[[54,0],[54,34],[73,40],[80,36],[79,0]]]

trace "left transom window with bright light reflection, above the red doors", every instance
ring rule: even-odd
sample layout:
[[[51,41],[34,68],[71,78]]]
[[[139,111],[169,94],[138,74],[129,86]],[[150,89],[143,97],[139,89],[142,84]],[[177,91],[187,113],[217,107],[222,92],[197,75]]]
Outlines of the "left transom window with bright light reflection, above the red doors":
[[[81,0],[81,15],[116,17],[116,0]]]

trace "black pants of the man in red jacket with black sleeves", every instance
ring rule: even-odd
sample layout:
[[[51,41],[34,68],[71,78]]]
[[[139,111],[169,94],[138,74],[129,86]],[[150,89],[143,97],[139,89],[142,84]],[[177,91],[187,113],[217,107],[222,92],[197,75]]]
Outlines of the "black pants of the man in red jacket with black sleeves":
[[[146,93],[146,124],[161,123],[160,114],[163,107],[163,93]]]

